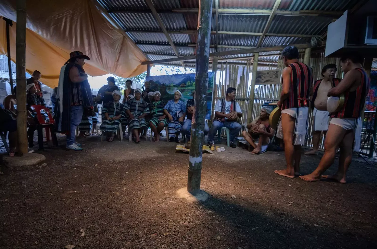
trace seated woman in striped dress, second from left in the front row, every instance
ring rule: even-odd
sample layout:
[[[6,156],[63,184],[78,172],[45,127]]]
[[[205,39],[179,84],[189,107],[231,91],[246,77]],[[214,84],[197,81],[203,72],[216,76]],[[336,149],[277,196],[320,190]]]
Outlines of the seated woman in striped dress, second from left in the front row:
[[[147,127],[145,116],[149,114],[148,104],[141,98],[142,93],[143,91],[136,88],[134,90],[135,98],[124,104],[124,113],[128,115],[128,127],[132,131],[137,144],[140,143],[140,132]]]

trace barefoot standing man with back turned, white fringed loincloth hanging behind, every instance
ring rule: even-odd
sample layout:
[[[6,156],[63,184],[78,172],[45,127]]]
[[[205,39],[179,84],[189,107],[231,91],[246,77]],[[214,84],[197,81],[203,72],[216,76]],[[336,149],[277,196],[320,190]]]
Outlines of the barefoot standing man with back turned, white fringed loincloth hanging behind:
[[[277,105],[282,115],[277,125],[276,137],[283,138],[287,169],[275,173],[294,178],[299,175],[301,146],[308,134],[310,91],[313,84],[311,68],[299,62],[299,50],[294,46],[282,51],[286,67],[282,71],[283,89]]]

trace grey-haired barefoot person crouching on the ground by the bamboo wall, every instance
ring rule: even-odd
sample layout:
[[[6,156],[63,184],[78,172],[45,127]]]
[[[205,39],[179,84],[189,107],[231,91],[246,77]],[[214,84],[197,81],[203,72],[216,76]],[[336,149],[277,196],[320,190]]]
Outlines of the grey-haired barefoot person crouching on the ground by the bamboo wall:
[[[275,134],[275,130],[268,123],[272,110],[271,106],[263,106],[259,116],[246,126],[248,131],[242,132],[242,137],[254,148],[252,154],[265,152],[270,144],[270,138]]]

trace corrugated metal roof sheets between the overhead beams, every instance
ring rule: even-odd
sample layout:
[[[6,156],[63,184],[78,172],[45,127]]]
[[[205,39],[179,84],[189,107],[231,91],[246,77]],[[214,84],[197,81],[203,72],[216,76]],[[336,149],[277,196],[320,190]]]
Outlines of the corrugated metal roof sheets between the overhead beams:
[[[150,60],[159,60],[163,58],[173,58],[173,52],[166,36],[161,32],[161,27],[153,17],[145,0],[98,0],[102,6],[112,15],[118,24],[125,30],[140,30],[137,32],[127,33],[130,38],[138,43],[139,48],[148,53]],[[152,0],[155,8],[161,17],[168,31],[196,30],[198,26],[198,13],[195,12],[169,12],[172,9],[179,8],[198,8],[199,0]],[[345,11],[352,8],[358,0],[282,0],[278,10],[286,11]],[[271,10],[275,0],[219,0],[220,9],[262,9]],[[215,6],[215,2],[213,2]],[[135,12],[132,12],[135,10]],[[138,12],[139,10],[139,12]],[[125,12],[112,12],[125,11]],[[140,12],[141,11],[141,12]],[[321,14],[321,13],[319,13]],[[249,32],[262,33],[267,24],[269,15],[250,15],[250,14],[225,14],[219,15],[218,30],[224,32]],[[289,35],[322,35],[327,25],[333,20],[333,17],[321,16],[300,16],[300,15],[281,15],[274,16],[271,26],[267,33],[289,34]],[[211,19],[211,30],[216,30],[215,13]],[[144,32],[143,32],[144,31]],[[159,33],[148,33],[145,31],[158,31]],[[194,55],[196,35],[189,34],[172,34],[170,37],[177,45],[179,54]],[[219,34],[218,51],[235,50],[232,47],[255,47],[258,43],[259,35],[234,35]],[[311,38],[287,37],[287,36],[265,36],[262,47],[271,47],[287,44],[308,43]],[[140,43],[150,43],[140,44]],[[215,52],[213,44],[216,43],[216,36],[211,35],[211,52]],[[194,46],[192,46],[194,44]],[[271,52],[273,56],[260,57],[260,61],[277,61],[279,56],[276,52]],[[150,55],[153,54],[153,55]],[[156,55],[157,54],[157,55]],[[268,53],[260,53],[260,55],[268,55]],[[238,58],[253,56],[252,54],[231,55],[227,58]],[[232,60],[234,61],[234,60]],[[187,61],[189,62],[189,61]],[[377,63],[377,62],[375,62]],[[374,63],[374,64],[375,64]],[[179,62],[171,62],[170,64],[179,65]]]

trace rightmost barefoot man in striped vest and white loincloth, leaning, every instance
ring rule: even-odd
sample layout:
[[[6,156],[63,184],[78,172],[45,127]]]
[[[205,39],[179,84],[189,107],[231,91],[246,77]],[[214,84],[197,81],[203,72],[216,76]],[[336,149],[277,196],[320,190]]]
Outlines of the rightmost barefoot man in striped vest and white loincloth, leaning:
[[[361,123],[361,112],[369,91],[369,76],[362,67],[363,58],[358,53],[348,53],[340,58],[340,65],[345,73],[342,81],[331,88],[327,96],[344,96],[344,104],[340,111],[330,114],[331,120],[325,138],[325,153],[316,170],[306,176],[300,176],[305,181],[319,181],[335,159],[339,147],[339,166],[335,175],[322,177],[340,183],[346,183],[346,172],[352,161],[354,133]]]

